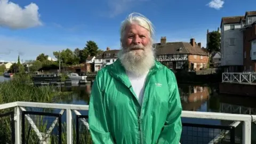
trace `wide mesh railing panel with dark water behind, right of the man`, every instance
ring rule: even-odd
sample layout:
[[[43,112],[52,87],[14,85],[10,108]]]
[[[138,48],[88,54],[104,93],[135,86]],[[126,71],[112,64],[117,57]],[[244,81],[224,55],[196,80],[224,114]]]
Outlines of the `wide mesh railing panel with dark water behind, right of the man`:
[[[221,125],[183,123],[180,143],[234,144],[235,127]]]

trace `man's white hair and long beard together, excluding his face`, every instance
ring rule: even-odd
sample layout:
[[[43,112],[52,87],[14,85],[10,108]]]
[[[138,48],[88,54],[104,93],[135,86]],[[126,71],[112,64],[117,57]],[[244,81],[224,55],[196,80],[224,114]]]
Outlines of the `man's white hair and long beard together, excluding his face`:
[[[147,45],[127,45],[125,43],[126,28],[130,25],[139,25],[149,31],[149,43]],[[152,23],[139,13],[131,13],[121,26],[121,51],[118,53],[118,59],[121,61],[126,71],[132,74],[141,76],[155,65],[155,49],[153,48],[154,28]],[[140,54],[134,52],[132,49],[143,49]]]

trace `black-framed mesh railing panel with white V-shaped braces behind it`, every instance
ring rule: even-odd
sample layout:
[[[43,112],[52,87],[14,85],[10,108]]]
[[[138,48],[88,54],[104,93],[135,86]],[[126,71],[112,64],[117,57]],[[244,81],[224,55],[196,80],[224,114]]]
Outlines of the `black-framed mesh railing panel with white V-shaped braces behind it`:
[[[22,144],[61,143],[61,114],[22,111]]]

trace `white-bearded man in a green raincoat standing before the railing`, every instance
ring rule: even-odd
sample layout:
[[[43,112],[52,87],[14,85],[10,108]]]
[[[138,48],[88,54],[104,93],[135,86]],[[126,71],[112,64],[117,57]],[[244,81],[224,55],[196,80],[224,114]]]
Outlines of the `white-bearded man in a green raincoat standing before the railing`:
[[[123,21],[118,60],[98,71],[89,125],[94,143],[180,141],[181,102],[175,75],[155,60],[154,29],[141,14]]]

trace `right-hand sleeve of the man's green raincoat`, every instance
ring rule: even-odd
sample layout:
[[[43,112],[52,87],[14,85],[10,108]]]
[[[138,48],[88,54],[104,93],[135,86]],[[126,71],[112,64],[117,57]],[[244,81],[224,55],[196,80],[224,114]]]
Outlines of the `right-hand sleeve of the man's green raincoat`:
[[[174,76],[174,82],[170,87],[169,94],[169,114],[167,115],[165,125],[158,138],[158,143],[178,144],[181,137],[181,101],[178,85]]]

